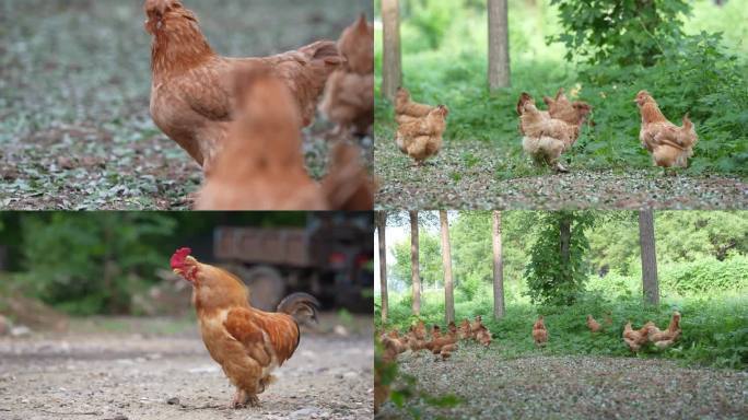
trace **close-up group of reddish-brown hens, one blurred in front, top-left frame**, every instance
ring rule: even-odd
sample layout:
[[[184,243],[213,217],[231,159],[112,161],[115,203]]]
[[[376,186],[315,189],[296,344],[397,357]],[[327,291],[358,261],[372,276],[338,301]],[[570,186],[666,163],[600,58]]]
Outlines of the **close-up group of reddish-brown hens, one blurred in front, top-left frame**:
[[[271,57],[219,56],[180,0],[145,0],[152,35],[151,116],[206,175],[200,210],[371,210],[374,185],[358,147],[340,142],[328,175],[304,166],[302,129],[319,109],[336,137],[374,122],[374,30]],[[324,98],[320,101],[320,96]]]

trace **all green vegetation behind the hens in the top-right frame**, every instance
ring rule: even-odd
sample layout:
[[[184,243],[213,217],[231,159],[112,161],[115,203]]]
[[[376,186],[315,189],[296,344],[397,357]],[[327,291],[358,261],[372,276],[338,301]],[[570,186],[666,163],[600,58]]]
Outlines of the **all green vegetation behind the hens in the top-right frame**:
[[[700,143],[689,174],[745,176],[748,1],[721,3],[510,0],[512,86],[490,94],[486,1],[401,0],[404,85],[418,101],[451,107],[447,139],[480,140],[506,153],[510,162],[500,171],[515,176],[535,172],[518,145],[514,109],[521,92],[539,101],[563,86],[594,106],[596,126],[572,150],[575,162],[648,167],[632,102],[646,89],[670,120],[679,124],[688,112],[697,124]],[[381,69],[381,26],[376,35]],[[391,107],[376,97],[376,133],[389,139]]]

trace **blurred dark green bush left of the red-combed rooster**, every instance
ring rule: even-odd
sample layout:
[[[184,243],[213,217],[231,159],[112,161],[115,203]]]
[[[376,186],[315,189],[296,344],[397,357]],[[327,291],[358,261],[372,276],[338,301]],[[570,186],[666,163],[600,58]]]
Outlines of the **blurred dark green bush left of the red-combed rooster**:
[[[77,315],[129,311],[132,290],[167,256],[149,242],[172,232],[156,213],[52,213],[24,219],[24,277],[38,296]]]

